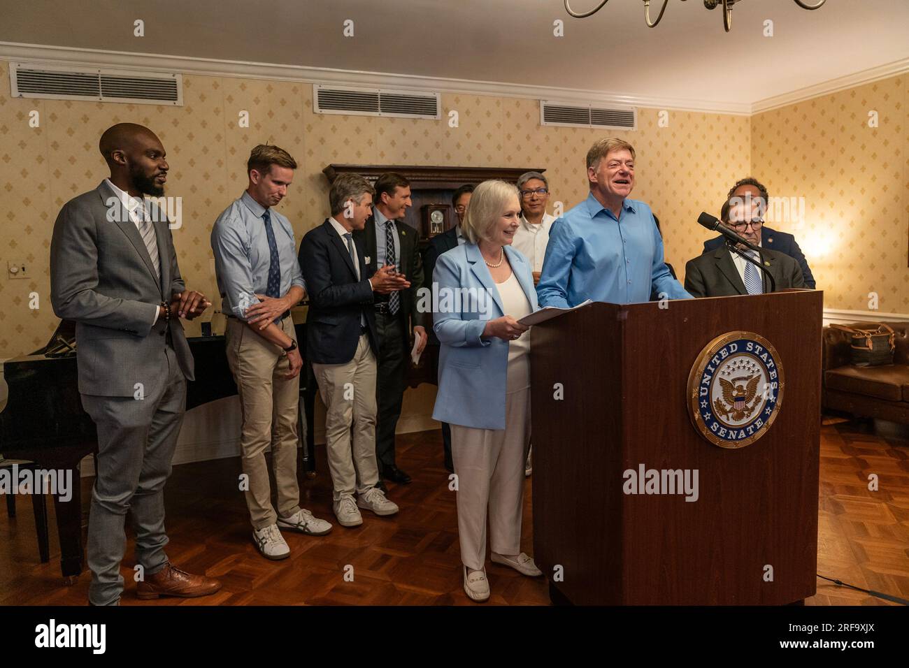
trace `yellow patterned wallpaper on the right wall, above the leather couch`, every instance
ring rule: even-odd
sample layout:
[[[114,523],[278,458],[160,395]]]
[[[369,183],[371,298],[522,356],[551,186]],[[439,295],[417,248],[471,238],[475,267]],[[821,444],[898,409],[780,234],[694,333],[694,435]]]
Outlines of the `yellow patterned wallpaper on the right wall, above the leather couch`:
[[[909,314],[909,77],[751,121],[754,174],[772,197],[804,197],[804,217],[779,228],[796,235],[824,307],[865,311],[876,293],[880,311]]]

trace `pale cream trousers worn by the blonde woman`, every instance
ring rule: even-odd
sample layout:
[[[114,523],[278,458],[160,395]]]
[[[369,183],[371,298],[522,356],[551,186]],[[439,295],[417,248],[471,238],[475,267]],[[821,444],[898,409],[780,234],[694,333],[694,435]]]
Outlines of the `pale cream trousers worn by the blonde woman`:
[[[530,388],[505,396],[505,428],[452,424],[457,474],[457,535],[461,561],[481,569],[486,561],[486,510],[494,553],[521,552],[524,463],[530,448]]]

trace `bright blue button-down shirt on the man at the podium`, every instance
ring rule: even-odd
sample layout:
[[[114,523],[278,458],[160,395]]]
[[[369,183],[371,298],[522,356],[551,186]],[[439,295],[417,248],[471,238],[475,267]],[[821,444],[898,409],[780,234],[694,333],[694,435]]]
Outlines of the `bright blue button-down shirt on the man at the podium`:
[[[647,204],[626,199],[616,219],[591,193],[554,222],[536,286],[541,307],[567,308],[586,299],[646,302],[652,291],[691,298],[664,264],[663,238]]]

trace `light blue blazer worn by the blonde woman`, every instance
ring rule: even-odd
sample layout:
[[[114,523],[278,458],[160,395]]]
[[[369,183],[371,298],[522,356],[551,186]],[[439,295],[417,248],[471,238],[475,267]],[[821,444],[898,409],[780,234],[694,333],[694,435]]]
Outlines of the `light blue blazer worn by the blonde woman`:
[[[539,305],[530,263],[510,245],[504,248],[531,310],[536,311]],[[495,337],[483,339],[480,335],[487,321],[514,314],[504,313],[502,298],[476,244],[463,244],[439,255],[433,281],[439,299],[433,330],[442,344],[433,419],[478,429],[504,429],[508,342]],[[454,307],[446,308],[446,292],[452,295]],[[482,292],[485,303],[471,304],[470,300],[461,299],[458,304],[455,292]]]

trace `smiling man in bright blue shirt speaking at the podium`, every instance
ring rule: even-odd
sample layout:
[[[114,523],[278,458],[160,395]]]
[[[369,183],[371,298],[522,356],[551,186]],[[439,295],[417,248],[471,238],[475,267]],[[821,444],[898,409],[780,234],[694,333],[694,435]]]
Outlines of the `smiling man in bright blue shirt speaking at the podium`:
[[[540,306],[576,306],[584,300],[631,304],[661,298],[690,299],[663,261],[663,238],[654,214],[629,199],[634,188],[634,147],[601,139],[587,152],[590,194],[556,220],[549,233]]]

